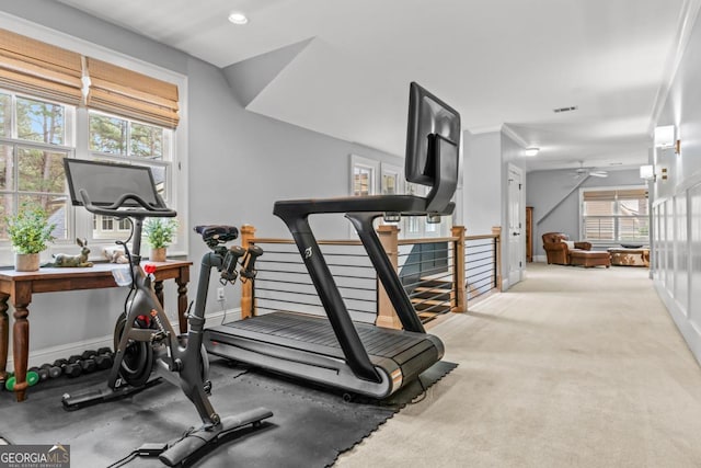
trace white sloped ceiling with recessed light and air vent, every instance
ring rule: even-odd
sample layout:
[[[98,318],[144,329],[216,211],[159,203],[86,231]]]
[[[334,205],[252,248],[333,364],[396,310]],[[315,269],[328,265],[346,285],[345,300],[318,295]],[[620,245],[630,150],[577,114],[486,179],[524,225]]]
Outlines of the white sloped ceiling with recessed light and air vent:
[[[539,147],[529,171],[645,163],[657,96],[699,3],[60,1],[220,68],[301,43],[246,109],[395,155],[417,81],[461,113],[464,129],[505,128]],[[234,10],[246,25],[227,21]]]

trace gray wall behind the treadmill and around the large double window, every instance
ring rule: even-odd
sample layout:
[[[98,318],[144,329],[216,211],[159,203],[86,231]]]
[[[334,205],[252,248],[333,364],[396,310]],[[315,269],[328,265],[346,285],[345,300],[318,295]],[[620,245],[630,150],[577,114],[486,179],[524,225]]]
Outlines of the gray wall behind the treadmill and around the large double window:
[[[3,2],[2,10],[34,23],[168,68],[188,78],[189,226],[222,222],[256,226],[265,237],[288,237],[283,222],[272,215],[276,199],[348,194],[349,155],[357,153],[394,165],[402,159],[326,137],[251,112],[239,104],[223,72],[202,60],[73,9],[48,0]],[[344,220],[314,220],[320,238],[344,238]],[[189,237],[191,298],[194,297],[198,261],[206,248]],[[218,283],[217,283],[218,284]],[[239,287],[227,288],[227,308],[238,307]],[[73,343],[97,344],[112,334],[125,290],[43,294],[30,306],[32,333],[30,364],[72,354]],[[169,285],[166,301],[174,304]],[[209,310],[220,306],[210,301]],[[171,315],[174,309],[171,307]],[[54,350],[46,351],[50,346]]]

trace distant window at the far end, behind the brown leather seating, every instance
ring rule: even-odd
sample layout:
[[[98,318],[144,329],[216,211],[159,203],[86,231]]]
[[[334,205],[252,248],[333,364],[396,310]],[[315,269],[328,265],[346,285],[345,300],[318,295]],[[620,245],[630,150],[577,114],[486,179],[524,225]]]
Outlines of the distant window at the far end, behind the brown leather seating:
[[[597,243],[648,242],[647,190],[583,189],[582,230]]]

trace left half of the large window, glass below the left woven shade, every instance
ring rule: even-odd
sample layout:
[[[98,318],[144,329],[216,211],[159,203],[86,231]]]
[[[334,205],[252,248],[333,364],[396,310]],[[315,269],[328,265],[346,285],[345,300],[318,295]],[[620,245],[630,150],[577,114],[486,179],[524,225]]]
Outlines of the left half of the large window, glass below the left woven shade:
[[[56,226],[54,237],[72,237],[64,158],[74,148],[74,107],[0,91],[0,240],[5,216],[39,206]]]

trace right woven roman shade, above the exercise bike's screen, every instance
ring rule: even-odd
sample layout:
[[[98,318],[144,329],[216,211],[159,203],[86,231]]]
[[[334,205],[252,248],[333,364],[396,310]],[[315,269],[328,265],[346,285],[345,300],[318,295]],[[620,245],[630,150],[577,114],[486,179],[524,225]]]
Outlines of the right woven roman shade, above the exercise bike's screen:
[[[177,127],[177,85],[87,57],[88,106],[168,128]]]

